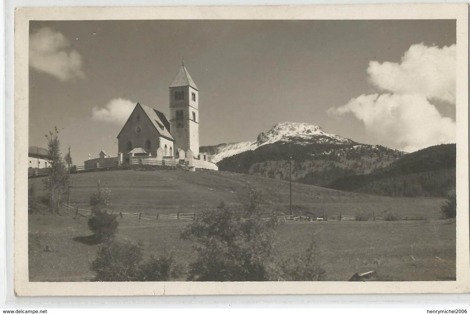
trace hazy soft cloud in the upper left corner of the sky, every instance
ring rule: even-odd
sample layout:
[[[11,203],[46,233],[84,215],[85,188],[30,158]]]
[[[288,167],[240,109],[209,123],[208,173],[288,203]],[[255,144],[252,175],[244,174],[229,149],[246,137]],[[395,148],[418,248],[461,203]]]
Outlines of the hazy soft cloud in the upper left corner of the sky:
[[[61,81],[85,78],[82,57],[71,49],[65,36],[43,27],[30,36],[29,65],[41,72],[49,73]]]

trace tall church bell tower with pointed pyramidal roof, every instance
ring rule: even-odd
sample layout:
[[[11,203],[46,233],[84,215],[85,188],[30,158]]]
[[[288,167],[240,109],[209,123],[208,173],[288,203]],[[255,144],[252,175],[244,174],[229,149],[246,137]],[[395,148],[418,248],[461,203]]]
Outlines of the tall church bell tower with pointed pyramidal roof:
[[[174,154],[190,149],[199,154],[199,90],[183,65],[170,86],[170,133],[175,139]]]

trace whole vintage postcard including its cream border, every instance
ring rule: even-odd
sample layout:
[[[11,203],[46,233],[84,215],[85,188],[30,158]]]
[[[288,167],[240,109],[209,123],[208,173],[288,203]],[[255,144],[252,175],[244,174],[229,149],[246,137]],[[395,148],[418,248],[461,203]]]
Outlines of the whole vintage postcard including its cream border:
[[[469,292],[466,4],[17,8],[14,105],[18,296]]]

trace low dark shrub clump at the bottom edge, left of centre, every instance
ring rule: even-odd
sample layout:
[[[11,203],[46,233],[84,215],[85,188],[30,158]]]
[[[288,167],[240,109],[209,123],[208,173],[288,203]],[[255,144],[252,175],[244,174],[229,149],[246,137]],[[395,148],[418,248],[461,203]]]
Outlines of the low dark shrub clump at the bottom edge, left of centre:
[[[173,255],[164,252],[159,258],[143,261],[143,245],[128,242],[108,242],[99,250],[90,269],[96,273],[92,281],[145,282],[168,281],[179,266]]]

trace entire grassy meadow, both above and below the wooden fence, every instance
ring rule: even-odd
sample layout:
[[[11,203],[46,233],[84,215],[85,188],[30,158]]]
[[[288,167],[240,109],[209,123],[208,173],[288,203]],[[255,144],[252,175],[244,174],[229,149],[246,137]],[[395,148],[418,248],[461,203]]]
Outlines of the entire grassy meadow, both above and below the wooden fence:
[[[150,213],[198,212],[221,200],[247,195],[247,184],[260,189],[267,205],[288,212],[289,183],[215,171],[103,171],[72,175],[71,203],[84,208],[96,190],[96,179],[113,193],[115,211]],[[38,190],[41,178],[30,179]],[[293,205],[298,211],[353,215],[366,209],[376,215],[394,207],[403,217],[439,217],[442,199],[390,198],[293,184]],[[100,245],[77,237],[91,235],[86,218],[29,215],[30,281],[87,281],[89,264]],[[174,252],[178,262],[192,259],[191,242],[179,238],[189,221],[120,219],[117,238],[144,244],[147,256]],[[356,272],[375,270],[380,280],[455,280],[455,221],[328,221],[288,222],[280,226],[277,249],[291,255],[304,250],[313,233],[319,258],[326,262],[327,280],[348,280]],[[75,239],[75,240],[74,240]],[[45,251],[48,246],[52,251]],[[179,278],[184,280],[185,278]]]

